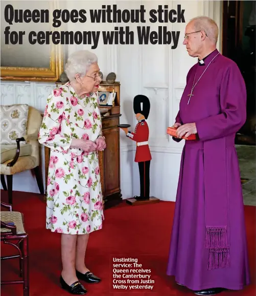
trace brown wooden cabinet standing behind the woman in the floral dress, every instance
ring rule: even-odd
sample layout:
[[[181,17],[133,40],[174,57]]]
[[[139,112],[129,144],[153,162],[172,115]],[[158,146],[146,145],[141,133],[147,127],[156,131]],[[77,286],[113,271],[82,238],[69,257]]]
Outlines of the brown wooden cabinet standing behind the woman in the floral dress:
[[[122,201],[120,186],[120,83],[114,84],[101,83],[99,92],[117,93],[113,107],[108,108],[106,115],[102,116],[102,133],[106,141],[106,149],[99,151],[99,164],[101,174],[101,186],[103,192],[104,208],[109,208]],[[50,149],[44,148],[45,154],[45,187],[47,186],[48,168],[50,160]]]

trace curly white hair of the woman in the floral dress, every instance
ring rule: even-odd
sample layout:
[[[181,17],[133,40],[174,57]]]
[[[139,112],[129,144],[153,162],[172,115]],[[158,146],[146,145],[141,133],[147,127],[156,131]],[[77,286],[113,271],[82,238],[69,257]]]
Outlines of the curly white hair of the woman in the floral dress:
[[[71,54],[65,65],[65,73],[69,80],[74,80],[76,74],[85,76],[86,72],[90,68],[90,65],[94,62],[98,62],[96,54],[88,50],[79,50]]]

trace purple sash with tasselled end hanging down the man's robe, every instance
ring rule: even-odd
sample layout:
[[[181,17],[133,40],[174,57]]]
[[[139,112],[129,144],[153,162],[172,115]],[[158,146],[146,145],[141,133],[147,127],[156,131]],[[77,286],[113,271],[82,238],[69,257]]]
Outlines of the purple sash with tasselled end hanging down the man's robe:
[[[234,143],[234,142],[233,142]],[[230,144],[232,142],[230,141]],[[233,144],[234,145],[234,144]],[[204,142],[204,196],[209,270],[229,267],[229,212],[226,138]]]

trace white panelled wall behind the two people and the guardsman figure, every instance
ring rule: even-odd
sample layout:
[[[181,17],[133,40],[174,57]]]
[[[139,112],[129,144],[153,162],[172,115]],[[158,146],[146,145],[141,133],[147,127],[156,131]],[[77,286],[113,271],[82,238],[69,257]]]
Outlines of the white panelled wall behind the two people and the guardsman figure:
[[[33,3],[33,2],[32,2]],[[185,9],[185,21],[198,15],[213,17],[217,24],[221,23],[219,1],[115,1],[107,4],[118,4],[118,8],[138,8],[142,3],[145,9],[157,9],[159,4],[177,8],[181,4]],[[100,8],[105,2],[72,1],[66,2],[67,8],[76,9]],[[85,8],[86,7],[86,8]],[[149,25],[151,30],[158,24]],[[150,167],[151,196],[161,200],[174,201],[179,175],[180,157],[183,143],[176,143],[166,135],[167,126],[174,123],[179,108],[187,72],[196,62],[188,56],[182,45],[184,23],[168,24],[171,31],[180,31],[178,47],[174,50],[165,45],[103,45],[99,44],[94,51],[99,57],[99,66],[104,77],[109,72],[117,73],[117,81],[121,83],[121,123],[130,123],[133,131],[136,120],[133,113],[133,97],[144,94],[149,97],[151,110],[148,118],[150,129],[150,149],[152,161]],[[112,26],[112,27],[111,27]],[[126,24],[119,24],[126,26]],[[137,24],[129,24],[130,30],[136,32]],[[113,24],[78,24],[68,25],[68,30],[111,30]],[[136,36],[136,35],[135,35]],[[102,42],[102,41],[101,41]],[[218,49],[219,43],[218,43]],[[71,45],[68,51],[80,49],[90,50],[90,46]],[[53,83],[39,82],[1,82],[1,104],[28,103],[43,112],[46,97],[55,87]],[[125,137],[121,131],[121,189],[123,198],[139,194],[138,166],[135,163],[135,143]],[[44,163],[43,149],[42,163]],[[43,170],[43,168],[42,168]],[[42,171],[44,176],[44,170]],[[17,191],[39,193],[35,178],[30,172],[14,176],[13,189]]]

